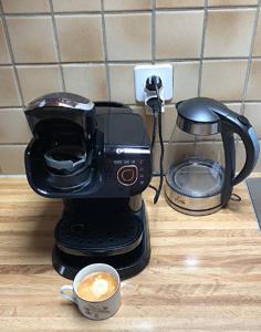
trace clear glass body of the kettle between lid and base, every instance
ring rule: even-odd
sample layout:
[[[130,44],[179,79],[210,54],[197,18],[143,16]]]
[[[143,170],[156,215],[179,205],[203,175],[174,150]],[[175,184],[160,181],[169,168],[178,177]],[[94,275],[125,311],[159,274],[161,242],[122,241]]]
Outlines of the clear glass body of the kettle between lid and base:
[[[220,194],[225,180],[221,135],[192,135],[175,125],[167,149],[166,181],[180,196]],[[179,197],[180,198],[180,197]]]

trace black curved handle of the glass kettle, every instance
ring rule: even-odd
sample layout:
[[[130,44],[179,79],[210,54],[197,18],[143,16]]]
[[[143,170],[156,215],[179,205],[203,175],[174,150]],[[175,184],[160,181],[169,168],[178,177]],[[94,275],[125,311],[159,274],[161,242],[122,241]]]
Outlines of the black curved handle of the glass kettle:
[[[227,149],[226,155],[230,155],[230,157],[234,155],[233,134],[238,134],[244,145],[246,163],[240,173],[232,177],[231,185],[236,186],[249,176],[258,162],[260,152],[259,138],[248,118],[232,111],[226,114],[226,118],[221,118],[221,134],[223,138],[227,138],[225,149]]]

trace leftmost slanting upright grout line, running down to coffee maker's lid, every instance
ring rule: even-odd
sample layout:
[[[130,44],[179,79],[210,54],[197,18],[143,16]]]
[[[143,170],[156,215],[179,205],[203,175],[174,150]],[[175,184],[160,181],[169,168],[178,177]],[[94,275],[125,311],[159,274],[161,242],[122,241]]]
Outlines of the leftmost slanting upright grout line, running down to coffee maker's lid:
[[[9,50],[9,55],[10,55],[10,60],[11,60],[10,66],[12,66],[13,73],[14,73],[15,85],[17,85],[18,95],[19,95],[19,102],[22,104],[22,105],[20,105],[20,107],[22,106],[22,108],[24,108],[25,105],[24,105],[24,100],[23,100],[21,83],[20,83],[20,79],[19,79],[19,75],[18,75],[18,69],[17,69],[15,61],[14,61],[14,55],[13,55],[11,39],[10,39],[9,31],[8,31],[8,24],[7,24],[7,21],[6,21],[6,17],[4,17],[4,12],[3,12],[3,7],[2,7],[2,1],[1,0],[0,0],[0,19],[2,19],[2,25],[3,25],[3,30],[4,30],[4,34],[6,34],[6,40],[7,40],[7,44],[8,44],[8,50]]]

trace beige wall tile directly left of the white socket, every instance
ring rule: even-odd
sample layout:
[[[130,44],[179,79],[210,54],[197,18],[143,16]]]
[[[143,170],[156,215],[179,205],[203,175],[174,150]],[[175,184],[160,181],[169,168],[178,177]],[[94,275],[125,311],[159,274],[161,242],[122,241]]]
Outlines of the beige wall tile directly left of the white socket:
[[[134,65],[109,64],[112,101],[134,104]]]

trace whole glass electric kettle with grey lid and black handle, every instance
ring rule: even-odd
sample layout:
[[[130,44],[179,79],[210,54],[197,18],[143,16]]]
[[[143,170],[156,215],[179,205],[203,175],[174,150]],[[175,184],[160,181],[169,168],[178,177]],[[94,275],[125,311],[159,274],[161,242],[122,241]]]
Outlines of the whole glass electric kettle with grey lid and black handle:
[[[234,185],[254,168],[258,136],[248,118],[206,97],[178,103],[168,144],[165,197],[188,215],[208,215],[226,206]],[[236,175],[234,134],[246,148],[246,163]]]

